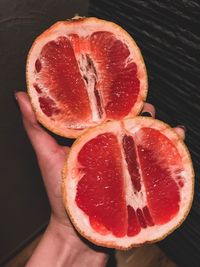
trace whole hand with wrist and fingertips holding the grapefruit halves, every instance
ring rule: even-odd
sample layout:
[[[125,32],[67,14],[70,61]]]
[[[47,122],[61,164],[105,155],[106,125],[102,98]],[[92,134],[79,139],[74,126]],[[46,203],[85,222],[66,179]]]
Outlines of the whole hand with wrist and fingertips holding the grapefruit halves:
[[[88,242],[80,238],[63,206],[61,170],[69,148],[60,146],[40,127],[26,93],[18,92],[15,97],[20,107],[24,128],[37,156],[52,211],[46,231],[26,266],[85,267],[91,264],[96,267],[106,266],[107,251],[88,245]],[[155,108],[151,104],[145,103],[142,112],[149,112],[155,117]],[[185,138],[182,128],[176,127],[175,131],[182,139]]]

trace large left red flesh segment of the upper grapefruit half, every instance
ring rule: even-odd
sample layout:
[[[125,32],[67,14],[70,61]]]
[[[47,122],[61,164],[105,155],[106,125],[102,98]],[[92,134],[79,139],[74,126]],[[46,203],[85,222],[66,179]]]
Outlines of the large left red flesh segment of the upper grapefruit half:
[[[49,89],[50,95],[62,108],[63,117],[69,121],[90,118],[88,94],[69,39],[59,37],[47,43],[40,58],[40,86]]]

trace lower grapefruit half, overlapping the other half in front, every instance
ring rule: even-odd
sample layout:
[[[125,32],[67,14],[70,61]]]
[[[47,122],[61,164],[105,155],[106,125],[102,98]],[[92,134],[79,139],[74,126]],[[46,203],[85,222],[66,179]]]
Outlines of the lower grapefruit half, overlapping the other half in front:
[[[145,117],[107,122],[74,143],[64,205],[84,237],[127,249],[161,240],[183,222],[193,178],[189,152],[168,125]]]

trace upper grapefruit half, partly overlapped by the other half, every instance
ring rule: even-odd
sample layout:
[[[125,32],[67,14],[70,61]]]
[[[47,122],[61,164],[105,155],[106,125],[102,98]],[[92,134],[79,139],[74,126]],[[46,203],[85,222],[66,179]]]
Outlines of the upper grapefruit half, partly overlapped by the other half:
[[[27,87],[37,119],[77,137],[107,120],[135,116],[147,94],[142,55],[120,26],[97,18],[61,21],[33,43]]]

